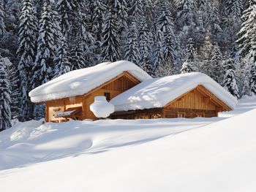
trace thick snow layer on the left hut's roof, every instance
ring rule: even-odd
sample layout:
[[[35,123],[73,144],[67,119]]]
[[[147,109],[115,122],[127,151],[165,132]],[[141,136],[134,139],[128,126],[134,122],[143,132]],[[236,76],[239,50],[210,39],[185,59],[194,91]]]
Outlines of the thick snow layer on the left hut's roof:
[[[63,74],[35,88],[29,93],[29,96],[32,102],[42,102],[83,95],[122,72],[129,72],[140,81],[152,78],[129,61],[105,62]]]

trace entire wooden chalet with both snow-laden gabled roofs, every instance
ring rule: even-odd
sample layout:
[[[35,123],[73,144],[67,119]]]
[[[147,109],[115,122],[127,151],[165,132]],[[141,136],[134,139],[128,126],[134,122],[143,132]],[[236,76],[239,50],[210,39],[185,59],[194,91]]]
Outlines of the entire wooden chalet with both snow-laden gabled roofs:
[[[29,93],[45,103],[45,120],[97,119],[89,110],[95,96],[115,106],[110,118],[216,117],[237,100],[206,74],[152,78],[129,61],[102,63],[63,74]],[[102,109],[104,110],[104,109]]]

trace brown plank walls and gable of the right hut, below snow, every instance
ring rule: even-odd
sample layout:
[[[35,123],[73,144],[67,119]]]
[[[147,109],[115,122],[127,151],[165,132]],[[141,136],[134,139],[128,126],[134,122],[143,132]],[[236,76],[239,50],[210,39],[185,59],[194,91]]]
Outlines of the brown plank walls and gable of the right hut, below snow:
[[[197,118],[217,117],[218,112],[230,111],[230,107],[214,96],[203,85],[184,93],[177,99],[170,101],[165,107],[115,112],[111,118],[122,119],[151,119],[151,118]]]

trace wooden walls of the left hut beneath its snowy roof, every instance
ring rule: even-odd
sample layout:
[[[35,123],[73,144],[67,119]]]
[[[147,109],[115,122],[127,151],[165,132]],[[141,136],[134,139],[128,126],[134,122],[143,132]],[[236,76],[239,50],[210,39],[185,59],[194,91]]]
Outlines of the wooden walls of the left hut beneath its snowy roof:
[[[82,96],[73,96],[64,99],[56,99],[53,101],[45,101],[45,120],[47,122],[64,122],[72,119],[84,120],[97,118],[89,109],[89,106],[94,102],[95,96],[106,96],[108,100],[113,99],[124,91],[138,85],[140,80],[129,74],[129,72],[123,72],[118,76],[114,77],[112,80],[105,82],[97,88],[94,88],[89,93]],[[82,110],[72,117],[59,117],[55,116],[60,112],[65,112],[72,110],[75,107],[82,107]]]

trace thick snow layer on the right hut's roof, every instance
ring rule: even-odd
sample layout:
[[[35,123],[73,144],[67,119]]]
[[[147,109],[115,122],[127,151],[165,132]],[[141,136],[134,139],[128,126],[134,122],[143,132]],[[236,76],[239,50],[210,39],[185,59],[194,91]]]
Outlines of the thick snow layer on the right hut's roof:
[[[211,77],[199,72],[146,80],[116,96],[110,102],[115,105],[116,111],[164,107],[165,104],[183,93],[187,93],[197,85],[203,85],[230,108],[233,109],[236,106],[237,99],[234,96],[212,80]]]

